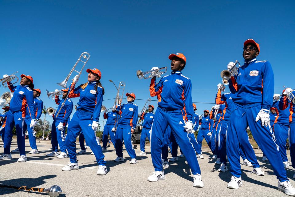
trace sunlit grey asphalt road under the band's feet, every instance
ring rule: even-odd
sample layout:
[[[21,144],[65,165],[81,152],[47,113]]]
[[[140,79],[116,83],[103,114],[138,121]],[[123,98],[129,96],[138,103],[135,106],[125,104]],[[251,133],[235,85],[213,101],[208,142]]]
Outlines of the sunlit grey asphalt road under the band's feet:
[[[3,143],[0,142],[0,145]],[[11,150],[17,146],[12,143]],[[91,197],[91,196],[287,196],[277,190],[277,179],[273,175],[268,162],[262,162],[262,154],[257,154],[257,159],[265,172],[265,176],[257,176],[253,173],[252,167],[242,165],[243,186],[238,190],[228,189],[227,182],[230,181],[229,171],[219,173],[219,166],[214,165],[210,158],[212,155],[203,150],[205,159],[198,159],[202,179],[205,184],[203,188],[192,186],[192,175],[185,158],[179,158],[178,162],[170,163],[164,170],[166,179],[158,182],[148,182],[147,178],[154,171],[150,147],[146,146],[145,156],[138,156],[138,163],[129,163],[129,157],[125,149],[123,155],[125,162],[115,163],[116,153],[113,147],[109,147],[105,154],[108,174],[96,175],[97,163],[91,150],[86,149],[86,155],[78,155],[80,169],[73,171],[61,171],[61,168],[69,162],[69,158],[58,159],[46,157],[51,146],[48,143],[37,143],[39,154],[30,155],[31,150],[26,142],[28,161],[17,163],[18,154],[13,154],[12,160],[0,161],[0,183],[6,185],[45,187],[59,185],[63,194],[67,197]],[[77,148],[80,148],[77,146]],[[0,149],[2,154],[3,149]],[[77,149],[79,151],[79,149]],[[139,145],[135,149],[136,154],[140,153]],[[169,157],[171,154],[169,153]],[[242,163],[242,161],[241,161]],[[293,179],[293,168],[287,169],[290,182],[295,186]],[[34,192],[17,191],[14,189],[0,188],[1,196],[43,196]],[[45,194],[44,194],[45,195]]]

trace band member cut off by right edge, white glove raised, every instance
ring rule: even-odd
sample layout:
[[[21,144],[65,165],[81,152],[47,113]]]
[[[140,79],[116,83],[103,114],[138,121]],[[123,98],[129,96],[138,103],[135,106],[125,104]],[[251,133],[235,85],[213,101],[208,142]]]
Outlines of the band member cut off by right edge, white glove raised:
[[[295,163],[295,107],[294,103],[287,98],[287,95],[292,93],[293,90],[291,88],[286,88],[283,91],[281,99],[279,101],[279,108],[281,110],[285,110],[289,108],[289,123],[290,123],[290,132],[289,132],[289,143],[290,143],[290,156],[291,156],[291,163],[293,168]],[[276,131],[275,131],[276,132]],[[293,175],[295,178],[295,174]]]

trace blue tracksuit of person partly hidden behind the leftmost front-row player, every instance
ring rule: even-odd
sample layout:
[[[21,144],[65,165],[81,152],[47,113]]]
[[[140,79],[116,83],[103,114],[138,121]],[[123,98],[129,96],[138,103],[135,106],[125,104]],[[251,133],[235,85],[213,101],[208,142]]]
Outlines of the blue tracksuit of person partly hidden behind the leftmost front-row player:
[[[34,109],[35,109],[34,112],[35,112],[36,121],[37,121],[38,119],[40,119],[42,115],[42,109],[43,109],[43,101],[39,97],[34,98]],[[29,110],[28,106],[27,106],[27,110]],[[25,122],[28,128],[29,143],[32,149],[37,149],[35,132],[33,128],[30,127],[31,120],[32,120],[31,116],[29,114],[26,114]]]

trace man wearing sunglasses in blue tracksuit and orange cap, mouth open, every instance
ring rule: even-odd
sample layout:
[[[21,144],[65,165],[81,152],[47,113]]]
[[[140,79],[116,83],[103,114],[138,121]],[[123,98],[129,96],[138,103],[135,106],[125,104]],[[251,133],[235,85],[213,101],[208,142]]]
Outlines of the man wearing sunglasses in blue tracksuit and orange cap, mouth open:
[[[246,40],[243,48],[245,64],[229,80],[234,107],[229,118],[226,147],[233,176],[227,187],[238,189],[242,186],[239,149],[242,132],[249,126],[256,143],[269,159],[273,173],[279,179],[278,190],[294,196],[295,189],[287,179],[279,147],[270,127],[269,109],[273,104],[274,91],[273,70],[268,61],[256,60],[259,52],[258,43],[252,39]],[[232,68],[233,62],[227,67]]]

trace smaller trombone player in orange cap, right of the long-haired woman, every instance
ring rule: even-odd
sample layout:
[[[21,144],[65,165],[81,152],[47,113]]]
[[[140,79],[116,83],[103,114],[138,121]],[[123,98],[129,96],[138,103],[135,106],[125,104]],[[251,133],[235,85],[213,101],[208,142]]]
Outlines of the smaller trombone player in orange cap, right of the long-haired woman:
[[[117,158],[115,162],[123,162],[123,140],[126,151],[131,157],[129,160],[131,164],[136,164],[136,154],[131,143],[131,134],[134,132],[137,117],[138,117],[138,107],[134,104],[135,94],[127,93],[127,102],[121,106],[122,99],[119,99],[119,104],[117,111],[119,111],[120,118],[117,122],[117,130],[115,134],[115,145]],[[121,106],[121,107],[120,107]],[[113,128],[114,131],[115,127]]]

